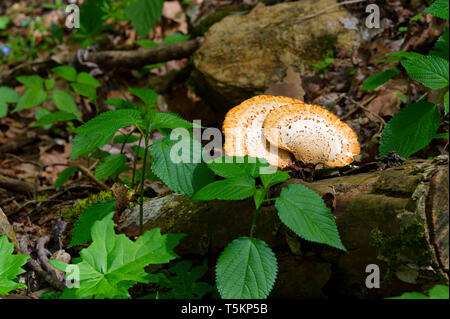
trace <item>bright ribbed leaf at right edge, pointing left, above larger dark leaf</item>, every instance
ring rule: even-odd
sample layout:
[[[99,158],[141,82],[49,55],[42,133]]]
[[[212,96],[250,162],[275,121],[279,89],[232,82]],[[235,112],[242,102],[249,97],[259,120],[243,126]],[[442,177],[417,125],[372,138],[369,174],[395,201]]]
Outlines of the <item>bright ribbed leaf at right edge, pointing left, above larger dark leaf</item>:
[[[431,89],[448,86],[449,63],[441,57],[422,56],[402,61],[403,67],[416,81]]]

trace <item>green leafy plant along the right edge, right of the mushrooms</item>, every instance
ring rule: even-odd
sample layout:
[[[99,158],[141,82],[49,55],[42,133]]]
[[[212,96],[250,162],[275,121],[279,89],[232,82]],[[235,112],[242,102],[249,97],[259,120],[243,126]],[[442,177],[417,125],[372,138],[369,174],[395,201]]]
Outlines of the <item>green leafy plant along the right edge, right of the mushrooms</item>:
[[[448,20],[448,1],[436,0],[427,13]],[[380,156],[396,151],[400,156],[409,157],[427,146],[433,138],[443,137],[436,131],[440,124],[439,105],[443,104],[444,114],[449,112],[449,29],[441,35],[429,55],[416,52],[393,52],[382,62],[400,61],[406,73],[412,79],[432,90],[438,90],[434,103],[419,100],[400,110],[387,123],[380,140]],[[392,67],[381,73],[370,76],[362,88],[373,90],[401,73],[397,67]],[[409,84],[408,79],[408,84]],[[403,99],[405,101],[405,99]],[[448,138],[448,136],[446,136]]]

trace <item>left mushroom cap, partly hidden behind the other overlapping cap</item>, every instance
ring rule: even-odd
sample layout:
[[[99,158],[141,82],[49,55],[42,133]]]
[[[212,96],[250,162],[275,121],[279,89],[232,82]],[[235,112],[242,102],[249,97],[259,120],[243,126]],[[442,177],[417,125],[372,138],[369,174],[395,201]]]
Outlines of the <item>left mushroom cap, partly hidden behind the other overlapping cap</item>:
[[[292,164],[289,152],[278,149],[276,154],[273,150],[270,151],[270,144],[264,138],[263,124],[267,114],[273,109],[299,102],[301,101],[285,96],[258,95],[232,108],[225,116],[222,126],[225,154],[265,158],[271,165],[280,168]]]

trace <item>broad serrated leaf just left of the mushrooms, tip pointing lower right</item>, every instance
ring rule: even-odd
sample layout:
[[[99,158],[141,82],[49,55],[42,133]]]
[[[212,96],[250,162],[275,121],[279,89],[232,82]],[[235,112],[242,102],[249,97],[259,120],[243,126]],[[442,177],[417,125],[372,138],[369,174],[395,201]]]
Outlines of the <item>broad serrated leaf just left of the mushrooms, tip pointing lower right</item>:
[[[172,150],[172,155],[179,155],[177,151],[181,150],[181,158],[172,158]],[[151,155],[152,171],[177,193],[192,196],[214,180],[213,172],[201,162],[200,143],[190,136],[184,136],[181,141],[172,141],[168,138],[154,141]]]

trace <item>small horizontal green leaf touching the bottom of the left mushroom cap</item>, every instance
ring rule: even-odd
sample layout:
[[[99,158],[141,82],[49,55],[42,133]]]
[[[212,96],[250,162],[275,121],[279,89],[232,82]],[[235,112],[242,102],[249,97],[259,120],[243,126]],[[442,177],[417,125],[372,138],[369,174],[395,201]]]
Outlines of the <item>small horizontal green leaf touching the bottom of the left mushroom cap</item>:
[[[225,178],[258,177],[262,168],[268,167],[268,163],[264,159],[256,157],[244,156],[222,156],[207,163],[217,175]]]

